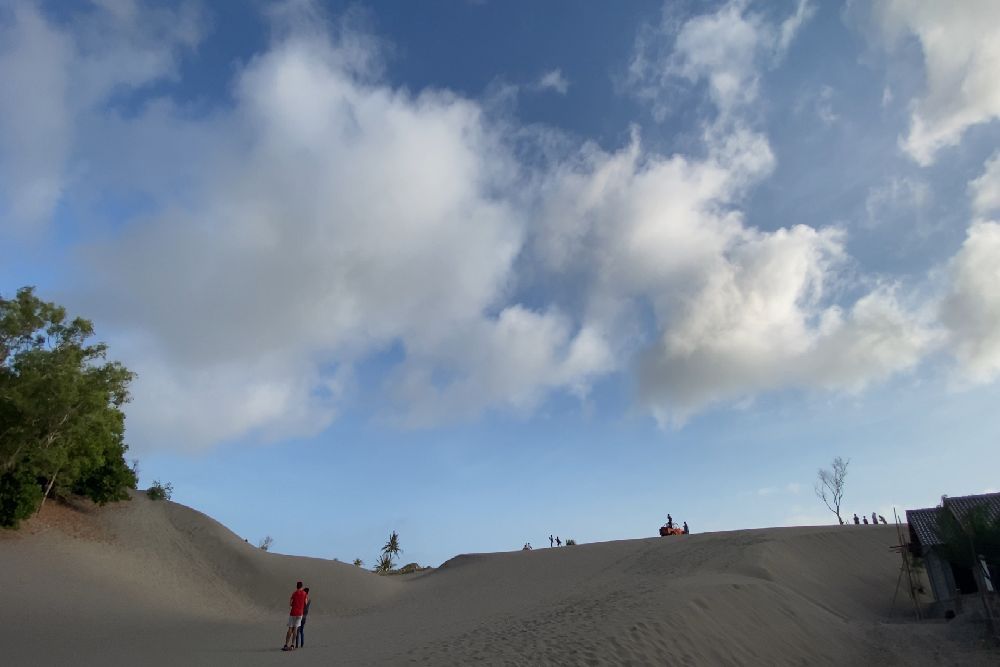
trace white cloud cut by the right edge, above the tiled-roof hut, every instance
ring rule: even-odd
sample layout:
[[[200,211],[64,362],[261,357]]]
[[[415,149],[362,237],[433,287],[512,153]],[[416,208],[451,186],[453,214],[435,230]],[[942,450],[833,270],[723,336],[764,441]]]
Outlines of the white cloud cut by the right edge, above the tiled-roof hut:
[[[949,267],[941,321],[964,381],[1000,375],[1000,223],[974,222]]]

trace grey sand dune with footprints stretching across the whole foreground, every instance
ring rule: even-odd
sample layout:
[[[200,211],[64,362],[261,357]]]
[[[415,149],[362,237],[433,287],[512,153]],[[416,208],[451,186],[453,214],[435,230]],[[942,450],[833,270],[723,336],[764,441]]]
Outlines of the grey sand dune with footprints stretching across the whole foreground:
[[[789,528],[459,556],[378,577],[263,553],[182,505],[53,507],[0,534],[0,664],[1000,664],[888,618],[885,527]],[[308,645],[278,651],[296,579]]]

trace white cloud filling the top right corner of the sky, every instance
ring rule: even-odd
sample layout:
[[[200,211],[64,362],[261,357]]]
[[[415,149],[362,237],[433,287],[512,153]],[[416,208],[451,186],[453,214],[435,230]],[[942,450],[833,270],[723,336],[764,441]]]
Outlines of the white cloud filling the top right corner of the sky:
[[[887,0],[873,11],[890,46],[912,34],[923,49],[926,91],[901,140],[914,160],[931,164],[969,127],[1000,117],[1000,3]]]

